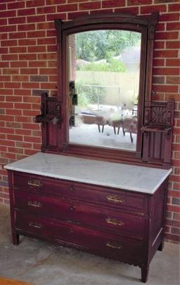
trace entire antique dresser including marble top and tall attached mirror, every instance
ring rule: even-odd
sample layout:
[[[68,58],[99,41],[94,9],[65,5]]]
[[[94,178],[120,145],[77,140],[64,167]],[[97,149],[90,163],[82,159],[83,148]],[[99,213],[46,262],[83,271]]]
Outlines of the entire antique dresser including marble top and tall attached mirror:
[[[157,23],[158,13],[144,17],[110,13],[68,22],[55,20],[58,94],[41,95],[41,114],[35,118],[36,123],[41,123],[41,152],[5,167],[14,244],[19,243],[19,235],[26,235],[70,246],[139,266],[141,281],[147,281],[150,260],[157,250],[162,250],[165,238],[174,120],[173,100],[152,100]],[[86,90],[79,94],[77,108],[76,44],[80,35],[89,40],[86,32],[92,31],[97,36],[114,36],[123,31],[124,37],[127,31],[130,37],[135,33],[140,52],[136,109],[133,106],[129,110],[127,103],[122,107],[110,104],[111,113],[105,119],[108,104],[100,102],[102,92],[98,104],[89,104],[84,111],[80,102]],[[108,88],[113,94],[113,87]],[[132,87],[127,88],[130,94]],[[127,91],[124,88],[123,94]],[[91,100],[95,100],[93,96]],[[92,105],[96,106],[95,113]],[[79,123],[85,117],[88,120]],[[132,121],[136,126],[130,125]],[[126,145],[120,143],[125,140]]]

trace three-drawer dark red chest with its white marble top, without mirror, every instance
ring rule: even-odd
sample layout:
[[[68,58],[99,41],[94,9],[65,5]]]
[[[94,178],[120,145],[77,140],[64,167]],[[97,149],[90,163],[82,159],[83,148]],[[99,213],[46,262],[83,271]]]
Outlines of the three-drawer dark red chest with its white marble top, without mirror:
[[[13,243],[32,236],[141,267],[162,250],[171,172],[39,152],[8,169]]]

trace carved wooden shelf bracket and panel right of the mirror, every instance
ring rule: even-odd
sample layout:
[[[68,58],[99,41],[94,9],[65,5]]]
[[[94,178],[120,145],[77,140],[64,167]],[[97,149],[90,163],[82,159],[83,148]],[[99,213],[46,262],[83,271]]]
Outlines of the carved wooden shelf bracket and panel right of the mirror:
[[[172,150],[174,100],[169,102],[145,102],[143,161],[156,160],[169,167]]]

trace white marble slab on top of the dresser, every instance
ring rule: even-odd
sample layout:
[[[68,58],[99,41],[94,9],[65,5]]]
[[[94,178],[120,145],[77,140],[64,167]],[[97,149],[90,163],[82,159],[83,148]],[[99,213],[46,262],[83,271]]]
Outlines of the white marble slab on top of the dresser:
[[[5,169],[153,194],[172,169],[156,169],[39,152]]]

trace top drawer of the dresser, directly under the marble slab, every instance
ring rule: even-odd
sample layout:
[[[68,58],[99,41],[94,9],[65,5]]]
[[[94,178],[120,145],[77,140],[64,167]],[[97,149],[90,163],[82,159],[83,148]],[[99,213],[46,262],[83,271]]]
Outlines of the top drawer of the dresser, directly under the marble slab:
[[[113,208],[129,208],[146,211],[148,197],[146,194],[133,193],[104,186],[95,186],[56,178],[22,174],[14,172],[13,186],[17,190],[27,190],[39,195],[49,194],[70,200],[105,205]]]

